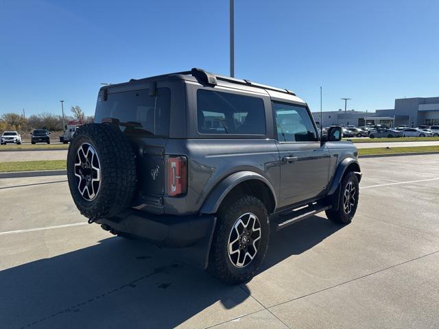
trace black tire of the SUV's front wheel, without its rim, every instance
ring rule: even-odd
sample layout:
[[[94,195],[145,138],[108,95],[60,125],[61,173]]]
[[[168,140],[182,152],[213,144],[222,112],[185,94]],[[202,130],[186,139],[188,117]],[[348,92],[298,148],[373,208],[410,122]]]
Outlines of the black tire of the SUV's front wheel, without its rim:
[[[345,199],[344,193],[346,193],[346,188],[350,184],[355,188],[355,193],[353,193],[353,197],[355,198],[354,204],[351,204],[350,211],[347,211],[345,208]],[[349,171],[346,173],[340,183],[340,197],[338,198],[338,208],[337,210],[326,210],[326,214],[328,219],[331,221],[335,221],[336,223],[348,224],[351,223],[355,212],[357,211],[358,206],[358,197],[359,197],[359,184],[357,175],[353,171]],[[351,199],[348,201],[351,202]]]

